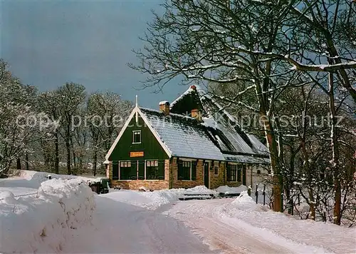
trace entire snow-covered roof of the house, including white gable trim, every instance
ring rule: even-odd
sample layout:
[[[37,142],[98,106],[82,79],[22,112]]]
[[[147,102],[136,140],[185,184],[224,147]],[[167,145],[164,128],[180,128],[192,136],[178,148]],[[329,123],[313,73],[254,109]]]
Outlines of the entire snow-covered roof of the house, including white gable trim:
[[[160,103],[166,104],[167,101]],[[189,116],[192,109],[201,111],[200,121]],[[154,109],[136,106],[105,156],[107,160],[128,123],[137,114],[147,123],[169,157],[269,163],[266,146],[256,136],[244,133],[235,118],[199,86],[191,86],[173,101],[167,116]]]

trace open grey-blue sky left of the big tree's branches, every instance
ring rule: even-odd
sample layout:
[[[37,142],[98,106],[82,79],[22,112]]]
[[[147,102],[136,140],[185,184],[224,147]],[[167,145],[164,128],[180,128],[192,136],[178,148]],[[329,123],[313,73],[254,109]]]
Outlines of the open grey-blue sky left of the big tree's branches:
[[[140,106],[157,108],[173,101],[188,87],[171,82],[162,93],[142,88],[144,74],[132,49],[141,49],[151,9],[162,11],[163,0],[147,1],[31,1],[0,0],[0,57],[23,83],[40,91],[68,81],[89,93],[114,91]]]

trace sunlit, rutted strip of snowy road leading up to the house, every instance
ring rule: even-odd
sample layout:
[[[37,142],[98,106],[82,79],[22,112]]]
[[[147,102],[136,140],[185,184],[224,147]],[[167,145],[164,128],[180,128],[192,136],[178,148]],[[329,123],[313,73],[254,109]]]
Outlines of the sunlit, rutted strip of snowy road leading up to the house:
[[[204,239],[211,248],[222,250],[224,253],[295,253],[286,248],[283,238],[261,238],[251,230],[251,225],[237,224],[224,221],[215,213],[216,207],[231,203],[230,198],[213,200],[189,200],[179,202],[164,214],[168,214],[192,229]],[[283,245],[280,245],[283,244]]]

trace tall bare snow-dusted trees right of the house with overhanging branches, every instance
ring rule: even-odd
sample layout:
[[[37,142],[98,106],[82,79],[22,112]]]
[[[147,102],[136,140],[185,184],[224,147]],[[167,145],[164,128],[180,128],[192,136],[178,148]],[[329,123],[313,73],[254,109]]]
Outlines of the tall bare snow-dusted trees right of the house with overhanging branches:
[[[166,0],[134,50],[145,86],[177,76],[204,83],[266,139],[273,210],[355,220],[356,2],[350,0]],[[310,116],[328,119],[323,127]],[[283,116],[296,125],[281,126]],[[339,119],[342,118],[342,121]],[[256,125],[254,125],[256,126]],[[248,129],[248,128],[247,128]],[[351,193],[353,193],[351,195]],[[352,198],[353,196],[353,198]],[[353,207],[353,208],[352,208]],[[351,218],[350,218],[351,216]],[[354,217],[352,217],[354,216]]]

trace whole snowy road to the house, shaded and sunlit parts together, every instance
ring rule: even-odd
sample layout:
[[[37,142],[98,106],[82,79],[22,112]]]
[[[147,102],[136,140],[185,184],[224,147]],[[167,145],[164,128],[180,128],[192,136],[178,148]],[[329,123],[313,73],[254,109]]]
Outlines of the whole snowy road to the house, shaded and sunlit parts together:
[[[231,199],[177,201],[157,210],[105,195],[98,195],[96,203],[97,229],[90,238],[79,230],[75,243],[64,252],[305,253],[300,245],[286,243],[281,236],[267,231],[261,237],[251,225],[219,218],[215,208]]]

